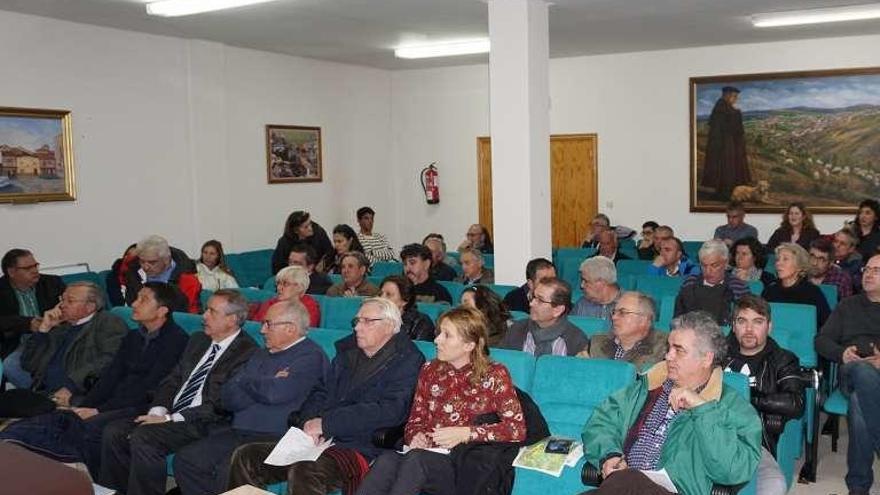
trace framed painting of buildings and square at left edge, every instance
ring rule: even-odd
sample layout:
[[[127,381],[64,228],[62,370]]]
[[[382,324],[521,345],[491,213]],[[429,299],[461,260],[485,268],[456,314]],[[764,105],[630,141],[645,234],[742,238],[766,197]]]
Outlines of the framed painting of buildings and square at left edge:
[[[0,107],[0,203],[74,199],[70,112]]]

